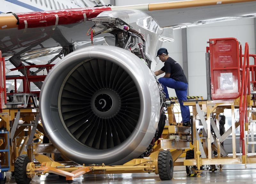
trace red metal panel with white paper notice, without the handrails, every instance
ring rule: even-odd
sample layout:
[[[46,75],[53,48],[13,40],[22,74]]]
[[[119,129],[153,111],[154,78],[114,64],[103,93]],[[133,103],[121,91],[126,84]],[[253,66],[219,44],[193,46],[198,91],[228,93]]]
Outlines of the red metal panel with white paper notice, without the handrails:
[[[239,41],[236,38],[209,39],[211,65],[211,92],[213,100],[236,99],[241,92]],[[206,50],[206,51],[207,51]],[[221,86],[221,75],[232,73],[234,86]]]

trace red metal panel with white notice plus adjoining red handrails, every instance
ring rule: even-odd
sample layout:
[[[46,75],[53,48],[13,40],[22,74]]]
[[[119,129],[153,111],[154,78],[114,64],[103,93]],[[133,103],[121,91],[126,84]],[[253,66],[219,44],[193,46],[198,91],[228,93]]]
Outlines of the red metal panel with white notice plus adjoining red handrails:
[[[240,98],[240,146],[242,154],[245,155],[244,125],[248,123],[247,96],[250,95],[250,83],[253,90],[256,89],[256,55],[249,55],[247,42],[243,55],[242,46],[236,38],[209,39],[209,44],[211,97],[212,100]],[[249,57],[254,58],[254,65],[249,65]]]

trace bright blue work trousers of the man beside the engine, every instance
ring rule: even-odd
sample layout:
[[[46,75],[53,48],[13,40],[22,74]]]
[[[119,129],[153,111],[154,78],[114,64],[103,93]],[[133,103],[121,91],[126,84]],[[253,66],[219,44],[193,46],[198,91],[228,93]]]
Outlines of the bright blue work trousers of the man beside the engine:
[[[180,111],[183,123],[187,123],[190,121],[190,111],[188,106],[184,106],[182,101],[187,100],[187,90],[188,84],[185,82],[175,81],[172,78],[160,77],[158,81],[164,87],[164,93],[166,94],[166,98],[169,98],[168,88],[175,89],[176,96],[180,103]]]

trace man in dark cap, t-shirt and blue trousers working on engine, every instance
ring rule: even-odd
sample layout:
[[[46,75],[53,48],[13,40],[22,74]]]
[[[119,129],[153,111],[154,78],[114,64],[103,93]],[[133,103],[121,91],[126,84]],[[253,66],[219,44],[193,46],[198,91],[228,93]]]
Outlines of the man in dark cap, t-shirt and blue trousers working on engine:
[[[157,76],[165,72],[164,77],[160,77],[158,81],[163,85],[164,93],[168,100],[169,94],[167,87],[175,89],[176,96],[180,103],[183,126],[189,127],[191,126],[189,107],[183,105],[183,101],[187,100],[188,81],[183,69],[178,62],[169,57],[166,48],[160,48],[157,51],[156,57],[159,57],[159,59],[164,62],[164,67],[156,71],[154,74]]]

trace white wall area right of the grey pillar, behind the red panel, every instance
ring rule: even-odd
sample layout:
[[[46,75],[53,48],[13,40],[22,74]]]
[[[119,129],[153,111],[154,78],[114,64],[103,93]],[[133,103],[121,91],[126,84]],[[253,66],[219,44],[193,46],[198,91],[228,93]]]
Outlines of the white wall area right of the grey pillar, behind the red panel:
[[[188,83],[190,96],[207,98],[205,47],[212,38],[234,37],[240,40],[244,49],[249,44],[249,53],[255,52],[254,18],[222,21],[187,28]],[[243,51],[244,53],[244,51]]]

